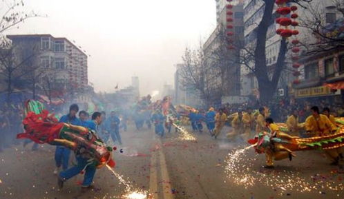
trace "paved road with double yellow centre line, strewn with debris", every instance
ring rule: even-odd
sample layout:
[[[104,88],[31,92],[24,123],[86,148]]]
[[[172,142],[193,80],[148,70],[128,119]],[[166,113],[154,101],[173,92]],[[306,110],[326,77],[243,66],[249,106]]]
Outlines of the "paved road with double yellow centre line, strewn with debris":
[[[97,188],[86,193],[79,188],[82,175],[57,188],[54,147],[31,151],[30,145],[17,145],[0,153],[0,198],[142,198],[141,193],[164,199],[344,198],[344,171],[329,166],[321,151],[298,152],[291,162],[282,160],[267,170],[261,167],[264,156],[238,150],[247,146],[240,138],[192,135],[195,140],[174,132],[161,139],[152,130],[129,128],[114,153],[122,182],[102,168],[95,176]]]

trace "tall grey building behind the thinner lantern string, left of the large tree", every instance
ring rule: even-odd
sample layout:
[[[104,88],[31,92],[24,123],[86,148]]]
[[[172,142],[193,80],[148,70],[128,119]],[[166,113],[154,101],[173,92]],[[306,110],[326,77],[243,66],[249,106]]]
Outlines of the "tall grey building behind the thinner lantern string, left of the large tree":
[[[204,74],[206,74],[204,84],[207,84],[207,87],[210,87],[210,90],[214,92],[211,94],[213,96],[211,101],[216,104],[220,104],[223,99],[229,98],[231,98],[231,101],[226,100],[225,103],[237,103],[236,97],[233,98],[233,96],[240,96],[239,54],[229,48],[227,32],[233,32],[235,43],[243,42],[244,10],[241,1],[231,1],[231,4],[233,5],[231,9],[233,21],[228,22],[227,1],[216,1],[218,24],[203,45]],[[228,25],[233,27],[229,28]],[[218,72],[214,72],[214,70]],[[221,75],[216,75],[219,72]]]

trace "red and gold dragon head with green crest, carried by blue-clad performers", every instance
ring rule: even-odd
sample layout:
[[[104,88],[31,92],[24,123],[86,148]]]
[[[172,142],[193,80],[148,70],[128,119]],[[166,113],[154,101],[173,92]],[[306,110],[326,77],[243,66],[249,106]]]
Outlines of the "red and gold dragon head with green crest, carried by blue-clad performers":
[[[115,167],[112,160],[111,147],[104,144],[92,130],[58,123],[54,114],[44,109],[44,105],[37,101],[26,101],[26,117],[23,119],[25,132],[18,134],[17,138],[28,138],[35,143],[61,145],[75,151],[80,156],[93,160],[92,164],[101,168],[104,165]]]

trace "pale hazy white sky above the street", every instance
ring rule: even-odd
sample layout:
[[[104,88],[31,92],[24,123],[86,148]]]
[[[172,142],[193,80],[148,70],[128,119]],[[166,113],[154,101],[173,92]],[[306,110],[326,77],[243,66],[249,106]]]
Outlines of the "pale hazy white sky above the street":
[[[139,76],[142,94],[173,84],[175,64],[216,25],[215,0],[25,0],[32,18],[10,34],[64,36],[86,50],[96,91]]]

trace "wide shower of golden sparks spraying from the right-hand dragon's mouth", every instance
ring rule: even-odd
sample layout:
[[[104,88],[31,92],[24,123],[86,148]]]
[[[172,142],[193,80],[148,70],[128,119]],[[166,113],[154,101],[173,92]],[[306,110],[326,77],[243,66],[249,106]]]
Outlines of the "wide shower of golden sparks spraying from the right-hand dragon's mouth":
[[[318,189],[329,189],[332,191],[343,191],[343,183],[338,183],[336,181],[328,182],[322,180],[320,175],[312,176],[313,182],[300,177],[299,172],[295,171],[256,171],[254,169],[254,161],[257,159],[257,154],[254,158],[247,158],[248,149],[254,147],[251,145],[245,147],[244,149],[236,149],[231,151],[226,160],[226,166],[224,167],[224,172],[227,174],[230,182],[234,182],[237,185],[245,187],[254,187],[257,182],[262,183],[266,187],[271,187],[271,189],[280,188],[280,194],[285,193],[285,191],[300,191],[318,192]]]

